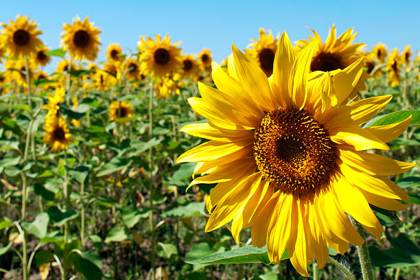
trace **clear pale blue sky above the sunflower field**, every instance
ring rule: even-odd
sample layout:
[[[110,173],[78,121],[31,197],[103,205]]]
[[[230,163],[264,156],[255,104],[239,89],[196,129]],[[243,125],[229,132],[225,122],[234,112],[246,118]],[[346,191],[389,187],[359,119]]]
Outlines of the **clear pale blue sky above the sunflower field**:
[[[420,1],[1,1],[0,22],[16,14],[30,16],[43,31],[40,38],[52,49],[60,47],[63,23],[76,15],[89,16],[100,27],[104,60],[109,43],[119,43],[125,52],[135,51],[139,35],[170,34],[182,41],[184,54],[198,54],[207,47],[213,60],[221,62],[231,43],[243,49],[258,38],[259,27],[273,34],[286,30],[290,39],[311,34],[312,27],[325,40],[328,27],[336,24],[338,35],[355,27],[357,43],[371,49],[378,42],[388,49],[405,45],[420,49]],[[415,53],[417,56],[417,52]],[[49,69],[55,69],[56,61]]]

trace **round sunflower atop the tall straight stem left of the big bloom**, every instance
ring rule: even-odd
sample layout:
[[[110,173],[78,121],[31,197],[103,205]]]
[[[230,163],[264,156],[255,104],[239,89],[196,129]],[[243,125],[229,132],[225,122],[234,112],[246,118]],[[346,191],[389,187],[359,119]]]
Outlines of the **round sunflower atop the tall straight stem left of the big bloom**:
[[[140,56],[141,72],[150,73],[152,76],[165,76],[177,71],[180,65],[180,43],[171,45],[169,35],[161,40],[161,35],[156,35],[156,42],[148,37],[141,38],[141,49],[144,49]]]

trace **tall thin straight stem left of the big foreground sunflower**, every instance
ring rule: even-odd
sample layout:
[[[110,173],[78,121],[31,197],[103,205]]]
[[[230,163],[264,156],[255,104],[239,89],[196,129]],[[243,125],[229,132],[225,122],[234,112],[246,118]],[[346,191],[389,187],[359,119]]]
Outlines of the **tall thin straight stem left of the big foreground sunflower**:
[[[149,91],[149,140],[153,137],[153,80],[150,83]],[[156,240],[154,236],[154,221],[153,221],[153,199],[154,199],[154,185],[153,185],[153,148],[149,148],[149,191],[150,191],[150,216],[149,216],[149,226],[150,226],[150,235],[152,242],[152,252],[151,252],[151,261],[152,261],[152,279],[156,279],[156,264],[155,264],[155,248]]]

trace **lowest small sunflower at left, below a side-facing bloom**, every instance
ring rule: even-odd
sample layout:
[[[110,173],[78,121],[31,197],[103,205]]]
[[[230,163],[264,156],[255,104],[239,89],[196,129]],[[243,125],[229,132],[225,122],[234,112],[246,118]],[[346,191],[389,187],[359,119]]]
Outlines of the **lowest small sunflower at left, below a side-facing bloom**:
[[[69,143],[73,142],[73,138],[67,128],[65,119],[62,117],[47,117],[44,130],[44,143],[49,145],[51,150],[60,152],[69,149]]]

